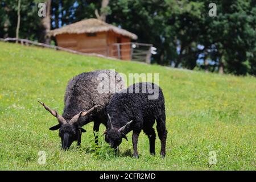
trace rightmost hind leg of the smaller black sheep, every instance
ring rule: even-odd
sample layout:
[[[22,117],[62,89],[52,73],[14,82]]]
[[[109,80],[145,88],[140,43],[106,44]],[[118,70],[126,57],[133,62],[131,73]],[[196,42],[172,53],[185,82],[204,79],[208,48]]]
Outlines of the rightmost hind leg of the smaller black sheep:
[[[158,137],[161,140],[161,152],[160,155],[164,158],[166,156],[166,138],[167,138],[167,130],[166,130],[166,122],[164,119],[156,119],[157,125],[156,130],[158,130]]]

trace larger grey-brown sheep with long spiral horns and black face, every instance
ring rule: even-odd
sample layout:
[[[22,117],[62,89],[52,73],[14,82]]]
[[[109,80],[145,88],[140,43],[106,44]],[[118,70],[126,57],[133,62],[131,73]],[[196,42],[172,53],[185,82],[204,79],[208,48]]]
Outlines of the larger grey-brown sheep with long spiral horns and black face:
[[[104,78],[105,83],[107,83],[105,86],[108,87],[106,93],[98,90]],[[77,146],[80,146],[81,133],[85,132],[82,126],[87,123],[94,121],[94,131],[99,130],[100,123],[106,126],[108,117],[105,113],[105,107],[109,104],[114,92],[121,90],[122,83],[122,77],[117,72],[109,70],[86,72],[73,77],[67,85],[62,115],[39,101],[46,110],[57,118],[59,124],[49,130],[59,129],[59,137],[64,150],[69,148],[75,140],[77,140]],[[114,92],[109,89],[110,86],[115,88]],[[97,143],[97,136],[95,141]]]

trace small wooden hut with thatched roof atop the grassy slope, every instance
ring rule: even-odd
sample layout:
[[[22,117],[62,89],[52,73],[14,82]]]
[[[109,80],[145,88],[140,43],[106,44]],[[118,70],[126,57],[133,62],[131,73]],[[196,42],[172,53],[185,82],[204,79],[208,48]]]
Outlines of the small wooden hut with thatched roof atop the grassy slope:
[[[49,36],[55,36],[60,47],[123,60],[131,60],[129,43],[137,39],[137,35],[129,31],[93,18],[51,30]]]

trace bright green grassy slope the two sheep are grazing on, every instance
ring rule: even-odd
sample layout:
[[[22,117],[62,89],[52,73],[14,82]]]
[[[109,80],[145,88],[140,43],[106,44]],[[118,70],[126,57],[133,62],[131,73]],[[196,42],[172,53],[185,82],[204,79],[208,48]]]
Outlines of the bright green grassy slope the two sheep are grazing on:
[[[166,99],[167,156],[149,154],[141,133],[139,159],[123,140],[115,157],[102,141],[93,151],[92,123],[84,126],[81,149],[60,150],[57,120],[39,105],[63,110],[70,78],[96,69],[120,73],[159,73]],[[184,71],[135,62],[73,55],[0,42],[0,169],[2,170],[255,170],[256,78]],[[100,134],[105,130],[100,127]],[[38,152],[46,151],[46,164]],[[210,165],[209,152],[217,154]]]

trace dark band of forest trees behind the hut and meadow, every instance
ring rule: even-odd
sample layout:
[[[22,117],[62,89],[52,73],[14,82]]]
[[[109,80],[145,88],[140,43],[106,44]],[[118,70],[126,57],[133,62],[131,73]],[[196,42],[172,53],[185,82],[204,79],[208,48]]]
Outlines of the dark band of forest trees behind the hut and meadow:
[[[47,5],[43,18],[40,2]],[[1,0],[0,38],[16,36],[18,9],[19,38],[53,44],[47,31],[100,18],[137,34],[137,42],[152,43],[157,48],[152,63],[256,75],[256,0],[20,0],[20,7],[18,0]]]

